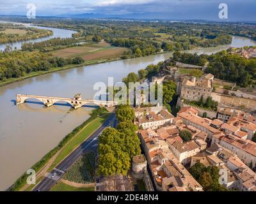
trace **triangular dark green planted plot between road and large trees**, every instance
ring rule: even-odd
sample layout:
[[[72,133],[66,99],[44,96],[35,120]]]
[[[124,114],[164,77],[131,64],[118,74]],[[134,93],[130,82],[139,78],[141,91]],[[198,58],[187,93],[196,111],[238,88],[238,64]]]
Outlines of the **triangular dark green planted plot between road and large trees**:
[[[88,152],[80,157],[63,175],[63,179],[77,184],[91,184],[95,182],[95,152]]]

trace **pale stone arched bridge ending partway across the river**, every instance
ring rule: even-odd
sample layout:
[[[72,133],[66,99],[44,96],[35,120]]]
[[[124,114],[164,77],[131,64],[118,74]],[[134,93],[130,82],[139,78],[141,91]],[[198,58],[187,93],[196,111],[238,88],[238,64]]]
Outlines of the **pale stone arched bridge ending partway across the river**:
[[[17,94],[16,95],[16,105],[25,103],[27,99],[38,99],[38,101],[41,101],[47,107],[52,106],[52,105],[54,105],[54,103],[57,103],[59,101],[64,101],[64,102],[67,102],[68,104],[70,104],[75,109],[81,108],[83,105],[86,105],[88,103],[94,103],[95,105],[104,106],[106,108],[110,108],[110,107],[118,105],[118,103],[114,102],[114,101],[99,101],[99,100],[82,99],[81,94],[76,94],[74,96],[74,98],[59,98],[59,97],[51,97],[51,96],[33,96],[33,95]]]

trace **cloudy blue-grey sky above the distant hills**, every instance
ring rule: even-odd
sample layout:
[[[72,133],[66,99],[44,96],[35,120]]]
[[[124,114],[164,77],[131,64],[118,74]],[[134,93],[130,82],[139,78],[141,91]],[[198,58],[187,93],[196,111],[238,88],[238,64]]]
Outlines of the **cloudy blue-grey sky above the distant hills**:
[[[226,3],[228,20],[256,21],[255,0],[0,0],[0,15],[26,15],[29,3],[37,16],[100,13],[168,20],[220,20],[219,4]]]

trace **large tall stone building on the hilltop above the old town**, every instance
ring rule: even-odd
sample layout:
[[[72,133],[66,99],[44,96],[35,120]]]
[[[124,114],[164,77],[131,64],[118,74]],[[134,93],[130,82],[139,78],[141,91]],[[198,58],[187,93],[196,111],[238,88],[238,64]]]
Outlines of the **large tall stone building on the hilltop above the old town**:
[[[206,74],[200,78],[185,77],[182,82],[180,98],[198,101],[202,96],[204,99],[211,97],[213,80],[214,76],[211,74]]]

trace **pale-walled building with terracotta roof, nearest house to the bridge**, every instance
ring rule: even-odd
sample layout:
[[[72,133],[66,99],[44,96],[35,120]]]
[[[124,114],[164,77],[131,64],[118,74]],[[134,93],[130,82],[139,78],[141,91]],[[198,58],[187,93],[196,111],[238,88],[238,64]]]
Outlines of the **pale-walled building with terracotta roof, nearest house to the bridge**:
[[[152,110],[152,108],[150,108]],[[142,129],[157,129],[160,126],[173,123],[174,116],[165,108],[161,108],[159,112],[150,112],[150,109],[143,109],[143,112],[135,109],[136,119],[134,124]],[[157,108],[158,110],[158,108]]]

